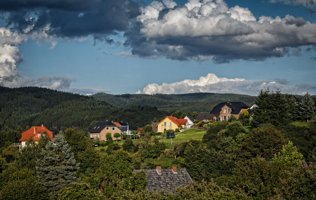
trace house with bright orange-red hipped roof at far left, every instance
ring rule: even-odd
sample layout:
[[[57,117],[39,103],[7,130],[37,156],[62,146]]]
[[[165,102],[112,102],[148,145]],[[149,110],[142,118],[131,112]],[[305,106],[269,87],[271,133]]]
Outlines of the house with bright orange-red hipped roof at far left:
[[[32,126],[30,129],[22,133],[22,137],[19,140],[21,142],[20,147],[25,147],[26,142],[32,138],[35,142],[39,141],[42,136],[48,134],[51,140],[55,137],[55,134],[48,130],[45,126]]]

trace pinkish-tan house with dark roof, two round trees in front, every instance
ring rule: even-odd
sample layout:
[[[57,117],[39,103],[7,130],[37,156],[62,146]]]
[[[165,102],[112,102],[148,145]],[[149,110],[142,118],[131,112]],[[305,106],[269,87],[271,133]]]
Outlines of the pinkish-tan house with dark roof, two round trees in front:
[[[111,133],[112,137],[109,138],[109,140],[116,140],[116,138],[113,137],[114,133],[124,134],[124,131],[113,122],[104,121],[97,123],[88,133],[90,134],[90,139],[100,138],[100,140],[107,140],[105,136],[106,133]],[[121,138],[118,138],[118,140],[121,140]]]

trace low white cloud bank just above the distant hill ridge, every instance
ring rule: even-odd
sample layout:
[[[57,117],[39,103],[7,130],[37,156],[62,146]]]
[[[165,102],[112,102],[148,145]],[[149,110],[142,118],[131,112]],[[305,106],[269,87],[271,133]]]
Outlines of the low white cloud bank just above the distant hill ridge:
[[[283,93],[302,94],[306,91],[316,91],[316,85],[300,84],[287,85],[287,80],[279,79],[279,83],[272,80],[246,80],[244,78],[219,78],[213,73],[200,77],[198,80],[185,79],[174,83],[161,85],[152,83],[144,87],[144,94],[186,94],[195,92],[235,93],[257,96],[258,92],[269,87],[272,90],[280,89]],[[282,83],[281,83],[282,82]]]

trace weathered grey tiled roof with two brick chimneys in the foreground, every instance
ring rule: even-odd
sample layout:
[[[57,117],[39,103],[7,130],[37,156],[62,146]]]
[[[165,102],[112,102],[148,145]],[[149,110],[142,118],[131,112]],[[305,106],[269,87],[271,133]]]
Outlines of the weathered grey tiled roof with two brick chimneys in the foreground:
[[[142,170],[134,170],[134,173]],[[185,168],[177,169],[177,173],[173,173],[173,169],[161,169],[161,175],[158,174],[156,169],[144,169],[146,174],[146,181],[148,191],[164,191],[176,193],[175,187],[181,185],[188,185],[193,182],[189,173]]]

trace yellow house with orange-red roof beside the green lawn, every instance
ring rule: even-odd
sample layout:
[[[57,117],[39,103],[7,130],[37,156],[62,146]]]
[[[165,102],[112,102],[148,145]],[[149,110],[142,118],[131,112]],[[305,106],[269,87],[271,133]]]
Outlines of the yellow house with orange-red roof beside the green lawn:
[[[185,128],[187,125],[188,120],[187,119],[177,119],[176,117],[173,116],[167,116],[161,122],[157,124],[157,130],[158,132],[162,132],[167,130],[167,129],[173,129],[175,130],[176,128],[179,128],[182,126]]]

